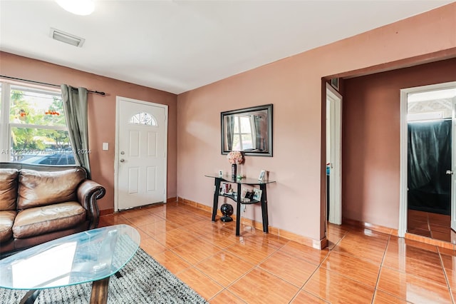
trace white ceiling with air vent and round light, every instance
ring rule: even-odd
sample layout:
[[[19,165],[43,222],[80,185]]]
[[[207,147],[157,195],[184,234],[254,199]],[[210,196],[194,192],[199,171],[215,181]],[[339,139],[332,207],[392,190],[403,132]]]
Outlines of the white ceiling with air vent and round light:
[[[76,16],[0,0],[0,50],[182,93],[451,2],[95,0]],[[52,40],[51,27],[86,42]]]

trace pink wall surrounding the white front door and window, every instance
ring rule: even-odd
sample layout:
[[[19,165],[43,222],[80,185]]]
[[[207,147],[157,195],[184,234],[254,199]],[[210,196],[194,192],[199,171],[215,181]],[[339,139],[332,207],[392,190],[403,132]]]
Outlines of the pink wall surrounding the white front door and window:
[[[46,83],[68,83],[71,86],[83,86],[106,93],[106,96],[88,94],[90,168],[93,180],[106,188],[105,197],[99,201],[100,210],[114,208],[115,97],[122,96],[169,106],[167,197],[177,196],[175,94],[4,52],[0,52],[0,74]],[[4,78],[0,78],[0,81],[4,81]],[[101,149],[102,143],[109,143],[108,151]]]

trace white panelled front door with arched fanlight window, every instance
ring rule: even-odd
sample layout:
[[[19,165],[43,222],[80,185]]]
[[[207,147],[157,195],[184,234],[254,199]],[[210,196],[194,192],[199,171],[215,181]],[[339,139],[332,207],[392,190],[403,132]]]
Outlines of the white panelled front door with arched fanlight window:
[[[117,98],[117,210],[166,202],[167,106]]]

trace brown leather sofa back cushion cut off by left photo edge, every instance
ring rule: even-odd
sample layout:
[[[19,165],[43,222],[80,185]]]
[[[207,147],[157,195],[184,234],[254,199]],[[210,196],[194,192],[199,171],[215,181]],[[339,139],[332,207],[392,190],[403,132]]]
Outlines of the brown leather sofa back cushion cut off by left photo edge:
[[[19,170],[0,168],[0,211],[16,210]]]

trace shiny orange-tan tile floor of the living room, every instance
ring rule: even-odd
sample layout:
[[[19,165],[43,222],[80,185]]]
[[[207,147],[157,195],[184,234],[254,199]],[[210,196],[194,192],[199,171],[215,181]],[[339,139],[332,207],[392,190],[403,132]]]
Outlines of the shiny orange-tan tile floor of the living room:
[[[210,303],[455,303],[456,254],[352,226],[316,250],[179,203],[123,211],[141,248]]]

